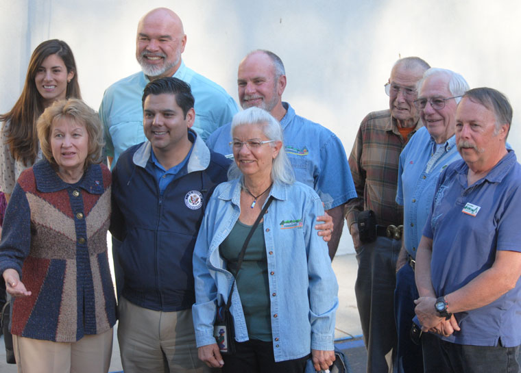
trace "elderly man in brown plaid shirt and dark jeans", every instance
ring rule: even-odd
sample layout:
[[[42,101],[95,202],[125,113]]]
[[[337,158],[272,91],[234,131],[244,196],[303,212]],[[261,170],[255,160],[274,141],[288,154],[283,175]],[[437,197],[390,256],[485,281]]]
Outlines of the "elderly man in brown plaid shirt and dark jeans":
[[[393,294],[403,222],[403,208],[395,201],[398,162],[407,141],[422,127],[414,100],[416,84],[428,68],[419,57],[405,57],[394,64],[385,85],[389,110],[369,113],[363,119],[349,157],[358,198],[347,203],[346,219],[359,263],[354,290],[368,373],[392,372],[396,355]],[[361,211],[369,210],[374,219],[365,219],[369,214],[364,213],[359,222]]]

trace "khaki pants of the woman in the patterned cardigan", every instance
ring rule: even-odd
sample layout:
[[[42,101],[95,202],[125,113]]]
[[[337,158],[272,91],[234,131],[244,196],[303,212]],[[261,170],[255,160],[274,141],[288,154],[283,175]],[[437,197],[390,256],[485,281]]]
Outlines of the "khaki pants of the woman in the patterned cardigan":
[[[107,373],[112,329],[77,342],[51,342],[13,335],[18,373]]]

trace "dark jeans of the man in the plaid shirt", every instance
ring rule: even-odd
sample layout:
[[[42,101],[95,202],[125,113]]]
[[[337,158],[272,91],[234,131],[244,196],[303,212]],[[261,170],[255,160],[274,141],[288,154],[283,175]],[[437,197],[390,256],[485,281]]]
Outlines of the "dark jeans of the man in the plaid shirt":
[[[396,357],[394,288],[401,240],[376,237],[356,253],[359,263],[354,293],[367,348],[367,373],[392,372]]]

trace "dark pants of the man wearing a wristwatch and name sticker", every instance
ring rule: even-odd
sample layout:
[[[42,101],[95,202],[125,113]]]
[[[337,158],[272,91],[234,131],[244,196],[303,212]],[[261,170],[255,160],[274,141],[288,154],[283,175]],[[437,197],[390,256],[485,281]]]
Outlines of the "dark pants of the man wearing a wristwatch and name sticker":
[[[470,346],[439,340],[445,369],[450,373],[519,373],[519,346]]]

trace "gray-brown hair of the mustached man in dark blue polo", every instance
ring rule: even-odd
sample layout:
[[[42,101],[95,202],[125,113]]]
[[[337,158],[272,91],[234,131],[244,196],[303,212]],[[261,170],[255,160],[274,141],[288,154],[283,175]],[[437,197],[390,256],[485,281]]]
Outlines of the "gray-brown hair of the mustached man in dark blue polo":
[[[494,135],[498,134],[502,125],[508,124],[508,136],[512,123],[513,110],[505,94],[502,94],[494,88],[482,87],[468,90],[463,97],[467,97],[470,101],[483,105],[487,110],[494,113],[494,116],[496,116]]]

